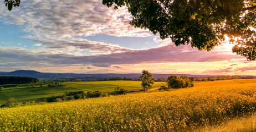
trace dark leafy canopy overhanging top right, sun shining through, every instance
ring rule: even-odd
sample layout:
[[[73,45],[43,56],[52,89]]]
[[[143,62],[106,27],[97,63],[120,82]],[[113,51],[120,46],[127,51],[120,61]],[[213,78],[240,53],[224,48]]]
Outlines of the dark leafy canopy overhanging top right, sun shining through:
[[[131,25],[170,37],[176,46],[191,44],[212,50],[225,40],[232,51],[254,61],[256,58],[255,0],[103,0],[107,7],[126,6]]]

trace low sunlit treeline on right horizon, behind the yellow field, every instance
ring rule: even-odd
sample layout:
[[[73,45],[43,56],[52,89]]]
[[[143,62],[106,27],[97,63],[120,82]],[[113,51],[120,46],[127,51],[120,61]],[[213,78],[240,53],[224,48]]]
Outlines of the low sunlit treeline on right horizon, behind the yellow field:
[[[190,77],[192,81],[216,81],[216,80],[231,80],[231,79],[254,79],[254,76],[239,76],[239,75],[219,75],[209,77]]]

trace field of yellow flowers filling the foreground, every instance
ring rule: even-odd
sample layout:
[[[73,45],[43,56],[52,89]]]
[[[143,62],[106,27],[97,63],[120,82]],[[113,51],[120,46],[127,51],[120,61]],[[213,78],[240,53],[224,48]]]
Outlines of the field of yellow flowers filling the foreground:
[[[202,82],[170,92],[4,108],[0,131],[255,131],[255,107],[256,80]]]

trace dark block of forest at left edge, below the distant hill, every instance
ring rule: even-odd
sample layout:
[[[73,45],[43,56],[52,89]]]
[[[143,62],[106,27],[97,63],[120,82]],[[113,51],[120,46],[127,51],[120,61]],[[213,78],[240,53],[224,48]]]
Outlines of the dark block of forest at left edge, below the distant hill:
[[[0,76],[0,85],[4,84],[31,84],[38,83],[37,78],[30,78],[26,76]]]

